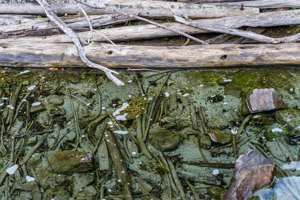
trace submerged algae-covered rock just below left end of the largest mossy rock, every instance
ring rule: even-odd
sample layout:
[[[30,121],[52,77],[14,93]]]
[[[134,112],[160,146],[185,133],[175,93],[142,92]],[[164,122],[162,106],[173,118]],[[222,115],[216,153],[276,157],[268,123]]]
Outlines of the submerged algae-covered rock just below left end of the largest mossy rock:
[[[39,184],[44,188],[64,187],[68,184],[68,179],[65,175],[55,174],[47,168],[35,168],[36,177]]]

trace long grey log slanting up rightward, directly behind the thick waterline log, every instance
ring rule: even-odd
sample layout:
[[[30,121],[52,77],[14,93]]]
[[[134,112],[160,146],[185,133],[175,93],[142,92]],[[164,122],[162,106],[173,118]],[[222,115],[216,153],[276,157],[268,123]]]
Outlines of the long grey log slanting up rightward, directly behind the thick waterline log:
[[[267,26],[278,26],[278,25],[288,25],[288,24],[299,24],[300,10],[262,12],[257,14],[247,14],[247,15],[240,15],[234,17],[232,16],[232,17],[216,18],[216,19],[197,19],[195,21],[206,23],[206,24],[212,24],[212,25],[220,25],[223,27],[230,27],[230,28],[238,28],[240,26],[267,27]],[[173,29],[184,31],[188,34],[209,32],[208,30],[186,26],[181,23],[164,23],[164,25],[167,25]],[[99,32],[106,35],[108,38],[110,38],[113,41],[165,37],[165,36],[173,36],[177,34],[165,30],[163,28],[159,28],[152,24],[100,29]],[[78,35],[84,39],[87,39],[89,32],[88,31],[79,32]],[[106,41],[106,39],[101,35],[93,34],[92,41]],[[0,43],[7,43],[7,42],[63,43],[63,42],[72,42],[72,40],[65,34],[43,36],[43,37],[31,36],[31,37],[21,37],[21,38],[0,39]]]

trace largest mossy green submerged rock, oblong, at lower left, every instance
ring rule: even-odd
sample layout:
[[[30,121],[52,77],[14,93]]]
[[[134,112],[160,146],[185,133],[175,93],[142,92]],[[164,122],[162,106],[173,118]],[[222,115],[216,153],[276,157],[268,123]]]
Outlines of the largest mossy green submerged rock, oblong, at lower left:
[[[46,153],[48,162],[55,173],[72,174],[75,172],[87,172],[93,169],[93,159],[80,160],[87,153],[74,150],[56,151]],[[87,157],[87,156],[86,156]]]

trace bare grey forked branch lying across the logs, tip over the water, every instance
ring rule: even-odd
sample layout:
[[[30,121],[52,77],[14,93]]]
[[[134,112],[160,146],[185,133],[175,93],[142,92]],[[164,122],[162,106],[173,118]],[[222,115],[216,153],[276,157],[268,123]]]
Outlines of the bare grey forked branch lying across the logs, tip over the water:
[[[82,43],[83,45],[88,44],[86,41],[84,41],[81,37],[79,37],[70,27],[68,27],[57,15],[56,13],[51,9],[50,5],[45,0],[36,0],[45,10],[45,13],[47,17],[51,21],[53,21],[60,29],[62,29],[74,42],[77,52],[81,58],[81,60],[89,67],[98,68],[105,72],[108,78],[110,78],[115,84],[117,85],[124,85],[122,81],[120,81],[118,78],[116,78],[112,73],[118,74],[118,72],[114,70],[110,70],[102,65],[96,64],[91,62],[87,57],[85,56],[85,53],[83,52],[83,49],[80,45]]]

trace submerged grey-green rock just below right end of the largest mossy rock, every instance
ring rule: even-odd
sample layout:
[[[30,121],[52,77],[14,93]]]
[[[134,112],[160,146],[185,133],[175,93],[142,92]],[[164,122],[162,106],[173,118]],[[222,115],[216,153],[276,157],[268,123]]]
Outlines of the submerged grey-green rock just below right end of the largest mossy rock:
[[[82,187],[87,186],[94,180],[94,174],[74,173],[69,184],[73,191],[73,196],[76,196]]]

